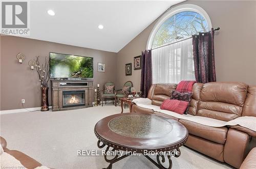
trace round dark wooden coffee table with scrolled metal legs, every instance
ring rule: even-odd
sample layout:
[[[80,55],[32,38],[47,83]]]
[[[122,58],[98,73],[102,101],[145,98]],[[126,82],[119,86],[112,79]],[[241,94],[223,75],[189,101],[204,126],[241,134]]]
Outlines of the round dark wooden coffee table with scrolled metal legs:
[[[158,168],[172,168],[171,155],[180,156],[179,147],[186,143],[188,137],[187,129],[173,119],[137,112],[105,117],[97,122],[94,132],[99,139],[99,148],[106,146],[105,152],[116,153],[112,159],[104,154],[105,160],[110,162],[107,168],[112,168],[113,163],[134,153],[143,154]],[[126,153],[120,156],[120,151]],[[157,155],[157,161],[147,154],[153,152]],[[168,167],[162,164],[165,162],[164,156],[167,156]]]

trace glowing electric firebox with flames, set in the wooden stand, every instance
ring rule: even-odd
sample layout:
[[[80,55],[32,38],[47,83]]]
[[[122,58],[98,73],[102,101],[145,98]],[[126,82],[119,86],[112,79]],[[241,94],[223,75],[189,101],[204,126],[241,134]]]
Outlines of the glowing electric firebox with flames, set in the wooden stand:
[[[77,91],[63,91],[63,107],[74,107],[74,106],[84,106],[85,104],[85,97],[84,97],[84,90],[77,90]]]

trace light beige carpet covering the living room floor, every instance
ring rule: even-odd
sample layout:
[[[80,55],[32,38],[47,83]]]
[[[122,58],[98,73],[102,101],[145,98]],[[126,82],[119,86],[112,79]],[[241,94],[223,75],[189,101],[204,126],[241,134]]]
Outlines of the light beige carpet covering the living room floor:
[[[125,109],[128,111],[128,109]],[[77,150],[99,150],[94,125],[103,117],[117,114],[120,106],[97,106],[55,112],[20,112],[1,115],[1,135],[8,148],[19,150],[52,168],[103,168],[103,156],[78,157]],[[173,168],[230,168],[194,150],[181,147]],[[113,164],[115,168],[157,168],[143,156],[130,156]]]

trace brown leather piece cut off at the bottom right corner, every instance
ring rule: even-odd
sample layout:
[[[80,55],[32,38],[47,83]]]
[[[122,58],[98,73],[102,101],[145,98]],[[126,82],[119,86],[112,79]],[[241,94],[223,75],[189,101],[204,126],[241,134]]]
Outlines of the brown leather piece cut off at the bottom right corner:
[[[249,168],[256,168],[256,147],[254,147],[245,160],[243,161],[240,169],[249,169]]]

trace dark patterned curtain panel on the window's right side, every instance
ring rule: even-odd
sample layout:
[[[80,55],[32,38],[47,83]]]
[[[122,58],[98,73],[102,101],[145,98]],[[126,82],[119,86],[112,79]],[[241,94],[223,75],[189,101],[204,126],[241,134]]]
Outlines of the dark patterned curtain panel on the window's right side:
[[[214,29],[193,35],[193,58],[197,82],[216,81],[214,60]]]

